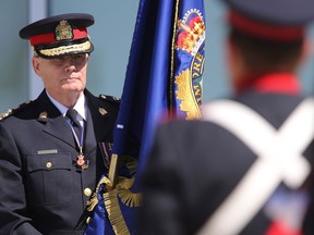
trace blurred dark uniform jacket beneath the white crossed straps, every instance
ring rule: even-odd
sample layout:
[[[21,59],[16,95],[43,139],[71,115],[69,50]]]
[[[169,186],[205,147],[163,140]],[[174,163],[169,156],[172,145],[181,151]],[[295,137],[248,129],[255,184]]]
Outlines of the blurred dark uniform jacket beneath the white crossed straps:
[[[278,128],[302,98],[249,91],[237,100]],[[304,152],[309,159],[311,154],[313,158],[310,148]],[[174,121],[165,124],[157,131],[143,176],[140,234],[195,234],[256,158],[237,136],[215,123]],[[259,211],[241,234],[262,235],[268,226],[269,221]]]

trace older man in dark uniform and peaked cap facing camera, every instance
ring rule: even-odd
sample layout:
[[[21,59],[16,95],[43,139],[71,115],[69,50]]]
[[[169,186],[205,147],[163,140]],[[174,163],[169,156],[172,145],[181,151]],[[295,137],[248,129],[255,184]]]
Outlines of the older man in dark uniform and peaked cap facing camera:
[[[0,234],[74,235],[86,227],[86,202],[107,171],[100,146],[112,143],[119,108],[85,87],[93,24],[93,15],[70,13],[20,32],[45,89],[0,116]]]

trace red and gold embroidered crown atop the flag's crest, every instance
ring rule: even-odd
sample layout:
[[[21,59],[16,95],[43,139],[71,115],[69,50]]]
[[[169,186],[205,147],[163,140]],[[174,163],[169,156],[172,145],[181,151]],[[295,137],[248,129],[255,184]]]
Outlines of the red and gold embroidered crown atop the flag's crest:
[[[198,10],[190,10],[178,21],[177,49],[195,55],[205,40],[205,23]]]

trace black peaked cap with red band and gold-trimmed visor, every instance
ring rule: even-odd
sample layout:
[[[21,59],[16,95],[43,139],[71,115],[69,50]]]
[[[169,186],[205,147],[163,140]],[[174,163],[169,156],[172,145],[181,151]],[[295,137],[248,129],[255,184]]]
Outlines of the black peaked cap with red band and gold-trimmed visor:
[[[93,24],[94,17],[90,14],[60,14],[25,26],[20,30],[20,37],[29,39],[32,49],[45,59],[90,53],[94,46],[87,27]]]

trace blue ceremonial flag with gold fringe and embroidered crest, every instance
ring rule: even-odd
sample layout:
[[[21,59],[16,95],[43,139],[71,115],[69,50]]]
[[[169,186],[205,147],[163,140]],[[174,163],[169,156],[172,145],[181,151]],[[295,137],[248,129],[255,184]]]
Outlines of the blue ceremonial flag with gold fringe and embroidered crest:
[[[141,176],[158,122],[201,115],[204,45],[203,0],[140,1],[110,170],[90,200],[85,235],[136,234]]]

